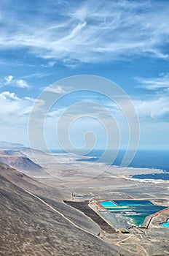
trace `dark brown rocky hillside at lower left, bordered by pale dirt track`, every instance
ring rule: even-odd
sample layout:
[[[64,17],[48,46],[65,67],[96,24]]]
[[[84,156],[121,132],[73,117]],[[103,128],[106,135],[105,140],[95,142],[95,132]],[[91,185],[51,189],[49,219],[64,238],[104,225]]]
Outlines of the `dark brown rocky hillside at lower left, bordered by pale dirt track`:
[[[117,249],[74,227],[3,173],[10,173],[10,179],[19,174],[0,163],[1,256],[118,255]]]

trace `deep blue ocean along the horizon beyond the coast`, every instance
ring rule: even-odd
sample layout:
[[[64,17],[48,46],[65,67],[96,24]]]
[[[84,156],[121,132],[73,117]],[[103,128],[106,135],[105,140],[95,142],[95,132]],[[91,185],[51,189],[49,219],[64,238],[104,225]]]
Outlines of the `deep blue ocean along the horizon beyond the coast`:
[[[52,153],[65,153],[64,151],[57,151],[52,150]],[[76,161],[90,161],[90,162],[99,162],[103,150],[93,150],[90,154],[87,154],[84,157],[80,157],[79,152],[74,152],[75,154],[79,154],[79,159]],[[112,156],[114,155],[114,151],[109,151],[106,154],[107,157],[103,161],[106,164],[110,165],[122,165],[122,159],[125,156],[125,151],[120,150],[117,154],[117,157],[112,162]],[[168,150],[138,150],[133,158],[132,162],[130,162],[129,167],[139,167],[139,168],[153,168],[153,169],[160,169],[165,170],[166,173],[160,174],[147,174],[147,175],[139,175],[133,176],[133,178],[153,178],[153,179],[162,179],[162,180],[169,180],[169,151]]]

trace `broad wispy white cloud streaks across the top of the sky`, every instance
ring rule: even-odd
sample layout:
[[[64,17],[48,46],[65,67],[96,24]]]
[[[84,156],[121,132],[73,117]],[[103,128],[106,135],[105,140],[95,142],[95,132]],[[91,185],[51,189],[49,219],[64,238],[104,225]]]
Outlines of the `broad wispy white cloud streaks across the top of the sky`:
[[[41,12],[35,4],[36,15],[24,19],[27,5],[22,13],[14,10],[15,14],[7,5],[1,15],[5,23],[1,29],[1,48],[29,49],[34,56],[51,59],[46,67],[57,60],[71,64],[135,55],[169,58],[165,50],[169,41],[168,1],[51,3],[44,4]]]

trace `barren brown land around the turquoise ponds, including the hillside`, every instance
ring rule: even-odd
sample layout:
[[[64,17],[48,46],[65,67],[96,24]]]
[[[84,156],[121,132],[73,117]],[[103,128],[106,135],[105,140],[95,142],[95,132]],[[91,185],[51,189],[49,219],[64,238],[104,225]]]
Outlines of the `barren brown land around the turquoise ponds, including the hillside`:
[[[31,165],[12,168],[18,156]],[[0,167],[1,255],[169,255],[169,230],[160,226],[169,217],[169,182],[130,177],[161,170],[77,162],[76,156],[30,148],[13,150],[10,157],[11,167]],[[87,206],[108,199],[147,199],[167,208],[148,228],[114,232]]]

